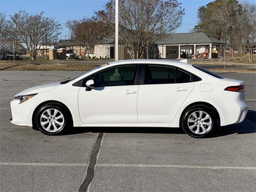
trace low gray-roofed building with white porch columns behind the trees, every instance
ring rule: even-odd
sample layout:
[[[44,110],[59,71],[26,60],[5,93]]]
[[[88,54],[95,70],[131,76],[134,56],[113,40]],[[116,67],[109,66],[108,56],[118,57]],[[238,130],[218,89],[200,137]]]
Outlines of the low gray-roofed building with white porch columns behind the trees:
[[[113,38],[105,38],[100,43],[94,46],[96,56],[106,54],[110,58],[114,58]],[[153,42],[149,47],[149,58],[188,58],[192,55],[201,54],[208,51],[207,58],[218,58],[224,56],[224,42],[204,34],[203,32],[196,33],[172,33],[166,34],[161,39]],[[103,57],[103,55],[102,55]],[[105,56],[104,56],[105,57]],[[142,58],[146,58],[146,50]],[[126,48],[119,45],[118,59],[130,59],[130,54]]]

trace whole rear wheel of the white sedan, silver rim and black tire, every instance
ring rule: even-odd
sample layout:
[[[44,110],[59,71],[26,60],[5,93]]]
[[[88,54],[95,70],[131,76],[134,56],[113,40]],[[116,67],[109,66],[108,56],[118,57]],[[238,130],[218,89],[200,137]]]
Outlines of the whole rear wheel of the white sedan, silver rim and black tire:
[[[204,105],[190,107],[182,117],[183,130],[194,138],[210,136],[216,126],[215,112]]]

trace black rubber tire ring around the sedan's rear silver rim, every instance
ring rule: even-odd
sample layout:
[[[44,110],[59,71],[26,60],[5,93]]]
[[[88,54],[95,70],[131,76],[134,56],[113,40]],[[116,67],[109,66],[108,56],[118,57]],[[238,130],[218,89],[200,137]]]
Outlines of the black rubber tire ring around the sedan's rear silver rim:
[[[195,134],[194,132],[192,132],[189,128],[188,128],[188,117],[190,116],[190,114],[192,114],[195,111],[199,111],[202,110],[206,113],[208,113],[212,119],[212,127],[210,128],[210,130],[204,134]],[[182,128],[183,130],[186,132],[186,134],[194,137],[194,138],[205,138],[208,137],[212,134],[212,132],[214,131],[214,128],[216,127],[216,115],[215,113],[210,110],[208,107],[206,106],[193,106],[191,108],[189,108],[188,110],[186,110],[186,112],[183,115],[182,118]]]

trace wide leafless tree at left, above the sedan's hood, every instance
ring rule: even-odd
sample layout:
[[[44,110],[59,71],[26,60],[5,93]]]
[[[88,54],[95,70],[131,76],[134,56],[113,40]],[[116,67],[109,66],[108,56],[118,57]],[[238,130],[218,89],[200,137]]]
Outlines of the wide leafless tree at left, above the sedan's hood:
[[[54,42],[60,34],[61,25],[54,18],[44,17],[43,12],[33,15],[20,11],[10,19],[12,31],[17,32],[16,39],[13,35],[15,44],[27,50],[32,60],[36,59],[46,36],[48,42]]]

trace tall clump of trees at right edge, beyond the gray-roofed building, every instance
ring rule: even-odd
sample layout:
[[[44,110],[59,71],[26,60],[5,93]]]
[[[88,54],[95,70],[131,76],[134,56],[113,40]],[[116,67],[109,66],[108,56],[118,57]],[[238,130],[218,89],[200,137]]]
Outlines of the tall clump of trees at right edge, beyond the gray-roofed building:
[[[205,32],[230,47],[246,48],[249,61],[256,41],[256,8],[243,0],[214,0],[198,8],[199,22],[193,31]]]

